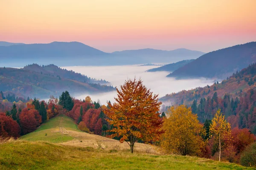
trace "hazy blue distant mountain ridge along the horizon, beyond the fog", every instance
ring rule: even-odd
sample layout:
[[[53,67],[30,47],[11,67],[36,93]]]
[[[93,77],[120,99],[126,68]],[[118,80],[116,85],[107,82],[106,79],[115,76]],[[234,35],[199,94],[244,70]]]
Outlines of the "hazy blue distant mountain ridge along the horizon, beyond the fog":
[[[170,63],[183,59],[195,59],[201,51],[176,49],[163,51],[141,49],[106,53],[81,42],[51,42],[49,44],[20,44],[0,46],[1,65],[21,67],[38,63],[48,65],[133,65],[145,63]],[[3,65],[4,64],[4,65]]]

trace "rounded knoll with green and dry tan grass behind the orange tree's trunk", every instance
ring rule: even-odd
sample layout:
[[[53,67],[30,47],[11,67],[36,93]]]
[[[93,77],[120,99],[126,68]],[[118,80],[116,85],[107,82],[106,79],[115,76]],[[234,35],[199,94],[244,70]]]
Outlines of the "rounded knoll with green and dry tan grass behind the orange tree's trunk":
[[[73,119],[63,114],[49,119],[49,121],[42,124],[37,130],[21,136],[20,139],[61,143],[62,145],[69,146],[100,147],[105,150],[128,150],[130,148],[126,142],[120,143],[115,139],[82,132],[77,128]],[[150,150],[151,153],[157,153],[157,150],[153,146],[143,143],[136,143],[135,150],[143,152]]]

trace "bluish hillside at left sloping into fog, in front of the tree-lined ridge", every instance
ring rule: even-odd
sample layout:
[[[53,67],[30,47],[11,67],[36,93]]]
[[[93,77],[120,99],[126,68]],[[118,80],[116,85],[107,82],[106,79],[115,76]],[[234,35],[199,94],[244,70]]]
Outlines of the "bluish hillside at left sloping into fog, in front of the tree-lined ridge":
[[[66,77],[68,76],[67,74]],[[23,96],[25,99],[27,96],[30,98],[48,98],[50,95],[58,96],[66,89],[72,94],[114,90],[109,85],[67,79],[55,74],[43,74],[17,68],[0,68],[0,90],[3,92],[10,91],[18,97]]]

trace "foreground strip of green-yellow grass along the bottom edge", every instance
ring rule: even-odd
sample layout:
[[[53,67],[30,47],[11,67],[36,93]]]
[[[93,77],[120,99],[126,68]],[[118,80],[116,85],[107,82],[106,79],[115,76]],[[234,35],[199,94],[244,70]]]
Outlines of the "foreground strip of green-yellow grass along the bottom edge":
[[[238,164],[189,156],[159,156],[47,142],[12,141],[0,144],[1,170],[253,170]]]

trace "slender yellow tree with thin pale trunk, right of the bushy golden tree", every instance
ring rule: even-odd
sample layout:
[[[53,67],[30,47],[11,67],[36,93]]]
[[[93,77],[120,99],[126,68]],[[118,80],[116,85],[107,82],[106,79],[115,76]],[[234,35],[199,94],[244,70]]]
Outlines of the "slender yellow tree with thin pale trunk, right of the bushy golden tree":
[[[215,140],[218,141],[219,161],[221,161],[221,147],[225,146],[224,139],[229,140],[231,138],[231,126],[230,123],[225,120],[225,116],[222,115],[220,109],[215,113],[215,116],[212,118],[212,124],[210,125],[209,131],[211,137],[215,137]]]

